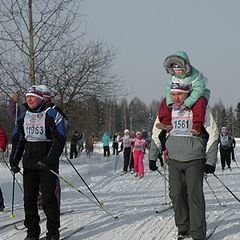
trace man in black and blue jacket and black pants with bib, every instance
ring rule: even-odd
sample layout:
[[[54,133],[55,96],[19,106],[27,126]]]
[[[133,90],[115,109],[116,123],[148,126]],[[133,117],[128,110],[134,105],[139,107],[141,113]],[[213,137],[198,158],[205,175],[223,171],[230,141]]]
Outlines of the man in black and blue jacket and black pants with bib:
[[[24,225],[25,240],[37,240],[40,235],[37,196],[39,186],[43,195],[43,209],[47,216],[48,240],[59,239],[60,208],[55,195],[59,157],[66,140],[63,116],[47,107],[43,90],[39,85],[31,86],[26,93],[26,111],[19,116],[12,135],[10,166],[14,173],[20,171],[23,158]]]

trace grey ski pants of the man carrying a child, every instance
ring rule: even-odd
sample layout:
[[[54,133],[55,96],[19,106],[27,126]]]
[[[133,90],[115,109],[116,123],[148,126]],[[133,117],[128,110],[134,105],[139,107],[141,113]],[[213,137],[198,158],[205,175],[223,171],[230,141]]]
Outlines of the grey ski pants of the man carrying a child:
[[[190,231],[194,239],[206,236],[203,167],[205,159],[180,162],[169,160],[170,198],[178,231]]]

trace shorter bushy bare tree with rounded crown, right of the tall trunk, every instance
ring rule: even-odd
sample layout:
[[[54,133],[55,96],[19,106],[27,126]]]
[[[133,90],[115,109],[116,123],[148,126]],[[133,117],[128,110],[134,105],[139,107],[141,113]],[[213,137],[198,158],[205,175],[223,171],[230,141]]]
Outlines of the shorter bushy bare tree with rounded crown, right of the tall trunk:
[[[78,45],[79,44],[79,45]],[[121,81],[110,72],[116,51],[102,42],[65,46],[50,59],[45,75],[60,106],[69,112],[75,102],[89,97],[111,99]]]

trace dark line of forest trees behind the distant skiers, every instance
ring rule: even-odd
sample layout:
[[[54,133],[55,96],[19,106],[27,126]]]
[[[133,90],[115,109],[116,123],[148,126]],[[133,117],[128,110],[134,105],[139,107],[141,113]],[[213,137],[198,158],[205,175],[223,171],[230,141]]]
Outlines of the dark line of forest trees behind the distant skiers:
[[[157,100],[147,105],[138,97],[129,103],[126,98],[102,101],[96,96],[89,97],[88,101],[84,102],[75,101],[68,111],[68,138],[76,130],[83,132],[85,136],[93,133],[98,139],[105,131],[113,135],[116,132],[123,133],[125,128],[151,132],[159,105],[160,101]],[[2,102],[0,109],[1,123],[10,138],[14,119],[7,114],[7,101]],[[235,107],[225,107],[219,102],[211,107],[211,111],[219,129],[226,126],[234,137],[240,137],[240,103]]]

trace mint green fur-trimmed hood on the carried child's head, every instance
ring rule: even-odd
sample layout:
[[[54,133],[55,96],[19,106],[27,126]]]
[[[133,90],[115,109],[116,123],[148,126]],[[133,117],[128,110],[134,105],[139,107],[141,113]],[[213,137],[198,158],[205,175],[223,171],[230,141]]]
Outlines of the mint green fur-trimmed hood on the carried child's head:
[[[189,61],[188,55],[183,51],[177,51],[175,54],[168,56],[164,61],[164,68],[167,73],[174,75],[172,68],[173,64],[179,65],[186,76],[191,74],[192,66]]]

